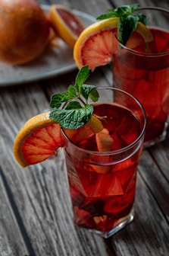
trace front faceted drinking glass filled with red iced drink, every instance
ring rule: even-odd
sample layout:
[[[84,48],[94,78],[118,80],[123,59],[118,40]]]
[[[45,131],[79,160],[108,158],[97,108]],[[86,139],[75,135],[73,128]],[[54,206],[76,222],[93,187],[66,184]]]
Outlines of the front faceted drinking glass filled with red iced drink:
[[[111,137],[111,147],[99,148],[96,138],[100,133],[75,143],[63,132],[67,141],[64,153],[75,224],[108,238],[133,220],[146,114],[139,101],[125,91],[97,90],[94,114],[102,120],[103,139]]]

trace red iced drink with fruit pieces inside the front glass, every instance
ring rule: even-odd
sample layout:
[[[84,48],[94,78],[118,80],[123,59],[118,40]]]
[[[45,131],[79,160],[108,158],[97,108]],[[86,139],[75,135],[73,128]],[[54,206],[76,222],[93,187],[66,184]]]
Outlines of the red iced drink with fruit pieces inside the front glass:
[[[117,104],[95,104],[94,114],[106,117],[103,126],[113,139],[112,151],[123,149],[140,134],[139,120],[130,110]],[[133,207],[136,190],[136,168],[142,147],[125,157],[125,151],[116,155],[99,155],[95,135],[81,140],[80,149],[65,149],[74,222],[86,229],[108,232]],[[122,159],[122,160],[121,160]]]

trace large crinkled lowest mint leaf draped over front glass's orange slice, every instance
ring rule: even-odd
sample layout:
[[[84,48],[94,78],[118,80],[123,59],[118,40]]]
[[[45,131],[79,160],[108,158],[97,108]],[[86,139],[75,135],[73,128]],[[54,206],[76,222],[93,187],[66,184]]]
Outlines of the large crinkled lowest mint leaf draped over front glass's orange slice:
[[[92,117],[93,107],[87,104],[85,107],[78,109],[52,109],[49,117],[56,120],[62,127],[68,129],[77,129],[83,126]]]

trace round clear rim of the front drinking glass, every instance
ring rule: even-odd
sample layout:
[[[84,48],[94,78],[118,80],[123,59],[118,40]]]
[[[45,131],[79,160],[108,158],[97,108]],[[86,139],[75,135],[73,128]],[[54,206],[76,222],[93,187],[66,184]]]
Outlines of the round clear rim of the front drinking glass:
[[[111,91],[119,91],[122,92],[123,94],[126,94],[127,96],[129,96],[130,98],[133,98],[133,101],[136,102],[136,104],[139,106],[139,108],[142,110],[142,116],[144,118],[144,124],[142,126],[142,130],[139,133],[139,136],[130,144],[125,146],[122,149],[116,149],[116,150],[112,150],[112,151],[105,151],[105,152],[98,152],[98,151],[92,151],[92,150],[88,150],[88,149],[83,149],[80,148],[79,146],[77,146],[73,141],[71,141],[71,139],[66,135],[66,133],[64,133],[63,128],[61,127],[61,131],[64,135],[64,137],[67,139],[68,142],[70,142],[71,145],[73,145],[75,148],[77,148],[80,151],[86,152],[88,154],[94,154],[94,155],[117,155],[120,154],[122,152],[128,151],[129,149],[132,149],[133,146],[136,145],[137,142],[139,142],[139,139],[142,138],[142,136],[144,135],[144,133],[146,132],[146,123],[147,123],[147,117],[146,117],[146,111],[144,109],[144,107],[142,106],[142,104],[140,103],[140,101],[135,98],[132,94],[128,93],[127,91],[121,90],[119,88],[114,88],[114,87],[104,87],[104,86],[100,86],[100,87],[96,87],[97,90],[111,90]]]

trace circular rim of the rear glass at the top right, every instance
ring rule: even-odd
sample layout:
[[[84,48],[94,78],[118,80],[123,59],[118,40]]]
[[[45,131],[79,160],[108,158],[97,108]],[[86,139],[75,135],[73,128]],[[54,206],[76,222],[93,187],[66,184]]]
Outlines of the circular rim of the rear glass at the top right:
[[[162,7],[158,7],[158,6],[142,6],[142,7],[139,7],[139,8],[136,9],[136,11],[143,11],[143,10],[164,11],[165,13],[169,14],[169,10],[167,10],[165,8],[162,8]],[[162,27],[161,27],[161,30],[162,30]],[[169,33],[169,31],[167,31],[167,32]],[[117,39],[117,37],[115,37],[115,38]],[[124,46],[124,44],[120,43],[119,40],[117,40],[117,41],[118,41],[118,43],[120,44],[120,46],[122,48],[124,48],[125,50],[130,51],[131,53],[135,53],[139,56],[155,57],[155,56],[165,56],[165,55],[169,54],[169,50],[161,52],[161,53],[142,53],[142,52],[133,50],[133,49],[127,47],[127,46]]]

